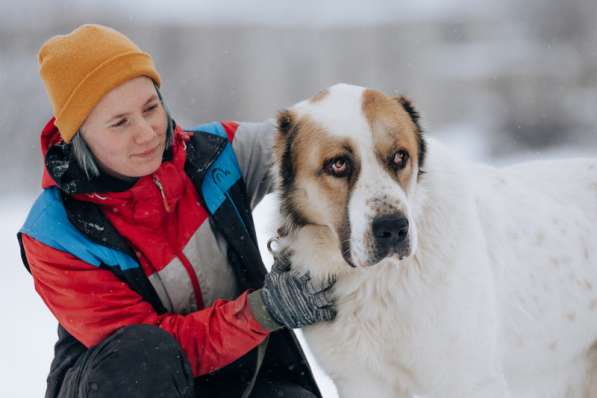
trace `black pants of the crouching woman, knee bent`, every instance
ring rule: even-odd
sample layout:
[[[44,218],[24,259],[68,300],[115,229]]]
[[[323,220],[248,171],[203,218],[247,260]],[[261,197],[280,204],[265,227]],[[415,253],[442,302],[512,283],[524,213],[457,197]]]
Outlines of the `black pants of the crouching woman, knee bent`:
[[[195,394],[191,366],[170,334],[155,326],[135,325],[118,330],[82,355],[66,373],[58,397],[211,398],[206,395]],[[258,379],[251,398],[265,397],[315,395],[297,385]]]

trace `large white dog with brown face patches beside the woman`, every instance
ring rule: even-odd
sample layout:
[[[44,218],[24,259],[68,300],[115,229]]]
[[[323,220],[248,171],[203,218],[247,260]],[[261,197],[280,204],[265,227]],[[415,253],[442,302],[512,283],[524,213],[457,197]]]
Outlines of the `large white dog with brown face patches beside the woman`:
[[[304,334],[341,397],[597,397],[597,160],[472,164],[346,84],[280,112],[274,152],[279,247],[338,278]]]

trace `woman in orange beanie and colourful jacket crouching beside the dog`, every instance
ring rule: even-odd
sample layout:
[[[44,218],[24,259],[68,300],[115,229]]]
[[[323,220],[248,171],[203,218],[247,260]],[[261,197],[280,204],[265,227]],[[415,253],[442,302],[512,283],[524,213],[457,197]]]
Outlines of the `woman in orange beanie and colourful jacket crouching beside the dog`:
[[[18,237],[59,321],[46,397],[320,396],[289,328],[333,319],[333,281],[266,274],[251,219],[274,127],[184,131],[150,55],[104,26],[39,63],[54,117]]]

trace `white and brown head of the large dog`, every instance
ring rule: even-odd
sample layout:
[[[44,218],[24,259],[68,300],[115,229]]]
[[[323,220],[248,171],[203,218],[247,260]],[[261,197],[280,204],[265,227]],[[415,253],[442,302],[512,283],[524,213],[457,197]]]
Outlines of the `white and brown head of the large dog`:
[[[329,227],[356,267],[414,253],[425,142],[406,98],[335,85],[280,112],[274,154],[286,227]]]

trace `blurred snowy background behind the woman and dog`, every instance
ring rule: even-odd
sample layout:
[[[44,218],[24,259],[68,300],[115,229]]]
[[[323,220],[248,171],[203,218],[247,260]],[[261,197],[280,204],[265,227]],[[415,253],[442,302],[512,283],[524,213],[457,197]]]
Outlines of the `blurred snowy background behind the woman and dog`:
[[[337,82],[406,94],[427,134],[493,164],[597,156],[597,2],[53,0],[0,13],[0,397],[40,397],[55,321],[15,233],[39,189],[50,106],[37,50],[81,23],[149,51],[183,125],[263,120]],[[92,49],[90,49],[92,50]],[[263,243],[275,211],[256,211]],[[317,371],[326,397],[335,397]]]

